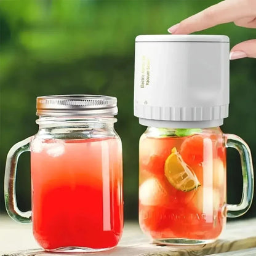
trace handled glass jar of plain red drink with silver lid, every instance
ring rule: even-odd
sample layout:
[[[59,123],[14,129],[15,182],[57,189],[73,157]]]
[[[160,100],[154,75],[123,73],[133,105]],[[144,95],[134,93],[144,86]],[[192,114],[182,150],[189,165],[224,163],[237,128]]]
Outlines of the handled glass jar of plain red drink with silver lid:
[[[55,95],[37,98],[38,133],[15,144],[6,162],[10,217],[33,222],[41,247],[95,252],[118,244],[123,228],[122,145],[114,130],[116,98]],[[17,159],[31,152],[31,212],[15,198]]]

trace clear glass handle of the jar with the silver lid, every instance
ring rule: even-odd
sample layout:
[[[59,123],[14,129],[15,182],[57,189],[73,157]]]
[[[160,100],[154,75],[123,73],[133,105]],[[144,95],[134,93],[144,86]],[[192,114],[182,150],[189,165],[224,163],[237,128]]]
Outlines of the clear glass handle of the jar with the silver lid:
[[[22,212],[17,206],[15,191],[17,162],[20,154],[30,151],[30,142],[32,138],[33,137],[26,138],[25,140],[22,140],[22,142],[18,142],[12,146],[6,159],[6,172],[4,176],[4,199],[6,202],[6,210],[12,219],[22,223],[31,222],[31,210]]]

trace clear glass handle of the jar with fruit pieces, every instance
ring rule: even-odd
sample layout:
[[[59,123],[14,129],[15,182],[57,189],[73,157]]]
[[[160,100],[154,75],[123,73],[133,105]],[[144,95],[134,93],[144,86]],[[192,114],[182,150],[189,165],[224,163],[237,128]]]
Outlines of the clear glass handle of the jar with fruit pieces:
[[[252,155],[250,148],[242,140],[234,134],[225,134],[226,148],[235,148],[238,150],[241,158],[242,166],[242,199],[239,204],[227,204],[227,217],[239,217],[249,210],[254,195],[254,169],[252,167]]]

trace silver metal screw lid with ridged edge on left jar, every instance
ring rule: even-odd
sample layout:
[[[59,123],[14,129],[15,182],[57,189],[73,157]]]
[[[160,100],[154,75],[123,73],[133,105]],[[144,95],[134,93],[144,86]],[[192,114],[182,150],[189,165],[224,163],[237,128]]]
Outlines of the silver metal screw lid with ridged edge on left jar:
[[[50,95],[36,98],[37,116],[114,116],[117,99],[104,95]]]

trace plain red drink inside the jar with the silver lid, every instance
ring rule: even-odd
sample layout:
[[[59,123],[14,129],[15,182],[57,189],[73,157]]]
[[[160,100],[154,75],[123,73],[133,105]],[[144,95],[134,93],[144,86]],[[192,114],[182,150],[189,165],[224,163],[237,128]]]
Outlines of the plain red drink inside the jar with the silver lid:
[[[31,144],[33,233],[47,250],[110,248],[123,228],[119,138]]]

